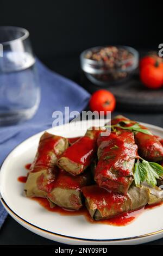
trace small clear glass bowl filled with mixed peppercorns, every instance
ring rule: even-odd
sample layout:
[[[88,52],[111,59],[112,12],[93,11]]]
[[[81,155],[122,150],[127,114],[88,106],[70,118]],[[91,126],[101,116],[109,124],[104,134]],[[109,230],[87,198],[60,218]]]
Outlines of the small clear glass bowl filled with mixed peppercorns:
[[[82,70],[98,86],[126,81],[138,63],[139,53],[129,46],[98,46],[80,54]]]

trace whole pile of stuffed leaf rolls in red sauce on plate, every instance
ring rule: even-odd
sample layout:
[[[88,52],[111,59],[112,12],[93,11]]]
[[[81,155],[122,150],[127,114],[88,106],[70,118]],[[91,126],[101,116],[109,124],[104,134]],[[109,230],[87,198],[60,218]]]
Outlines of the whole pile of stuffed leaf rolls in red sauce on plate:
[[[28,173],[27,197],[45,197],[52,207],[71,210],[85,202],[97,221],[161,202],[160,188],[134,183],[138,154],[148,161],[163,160],[159,139],[151,132],[125,130],[136,122],[123,116],[111,120],[111,125],[117,124],[121,125],[107,136],[93,128],[71,143],[45,132]],[[95,162],[92,175],[90,165]]]

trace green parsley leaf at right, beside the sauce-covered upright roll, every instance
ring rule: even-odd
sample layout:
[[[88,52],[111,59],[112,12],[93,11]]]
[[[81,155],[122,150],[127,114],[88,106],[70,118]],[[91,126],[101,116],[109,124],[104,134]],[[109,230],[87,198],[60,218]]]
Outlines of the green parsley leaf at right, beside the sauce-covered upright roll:
[[[163,175],[163,167],[158,163],[148,162],[141,159],[135,163],[134,180],[135,185],[138,187],[143,181],[146,181],[152,187],[157,184],[156,179]]]

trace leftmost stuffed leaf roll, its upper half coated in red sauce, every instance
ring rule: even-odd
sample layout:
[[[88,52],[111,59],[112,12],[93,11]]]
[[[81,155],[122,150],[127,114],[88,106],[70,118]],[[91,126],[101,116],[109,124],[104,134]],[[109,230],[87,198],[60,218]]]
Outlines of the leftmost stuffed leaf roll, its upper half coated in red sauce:
[[[58,167],[55,164],[67,147],[66,138],[48,132],[41,136],[24,188],[27,197],[46,197],[47,193],[52,190],[58,174]]]

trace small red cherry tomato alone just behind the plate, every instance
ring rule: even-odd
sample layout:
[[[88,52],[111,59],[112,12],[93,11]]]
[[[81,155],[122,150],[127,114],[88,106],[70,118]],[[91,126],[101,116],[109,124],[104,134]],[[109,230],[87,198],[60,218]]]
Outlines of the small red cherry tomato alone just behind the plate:
[[[91,111],[114,111],[116,106],[115,96],[108,90],[97,90],[90,99]]]

